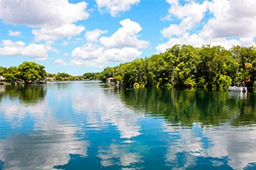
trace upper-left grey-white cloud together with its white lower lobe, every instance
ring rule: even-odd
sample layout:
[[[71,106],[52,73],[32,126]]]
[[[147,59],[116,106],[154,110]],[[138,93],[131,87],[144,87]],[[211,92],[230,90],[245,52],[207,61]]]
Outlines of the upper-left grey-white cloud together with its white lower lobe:
[[[84,30],[83,26],[74,23],[89,18],[86,7],[84,1],[77,4],[67,0],[0,1],[0,19],[7,24],[39,28],[32,31],[35,41],[53,42]]]

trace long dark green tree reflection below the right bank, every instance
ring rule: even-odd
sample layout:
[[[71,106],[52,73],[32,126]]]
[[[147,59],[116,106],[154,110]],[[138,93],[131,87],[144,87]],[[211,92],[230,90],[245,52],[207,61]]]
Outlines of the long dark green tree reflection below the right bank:
[[[255,95],[248,93],[205,92],[184,90],[138,89],[123,90],[121,99],[137,112],[165,117],[172,125],[191,126],[256,123]]]

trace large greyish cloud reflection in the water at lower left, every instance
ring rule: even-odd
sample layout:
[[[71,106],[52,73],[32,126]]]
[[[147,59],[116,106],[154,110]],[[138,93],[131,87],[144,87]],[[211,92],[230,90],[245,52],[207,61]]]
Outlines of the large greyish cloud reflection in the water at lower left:
[[[18,102],[5,104],[3,101],[0,107],[1,114],[10,122],[10,128],[23,125],[26,121],[23,118],[27,115],[34,120],[34,129],[7,135],[0,140],[3,169],[53,169],[53,166],[67,163],[70,154],[87,156],[89,142],[76,136],[80,128],[59,124],[53,112],[47,109],[45,100],[25,105]]]

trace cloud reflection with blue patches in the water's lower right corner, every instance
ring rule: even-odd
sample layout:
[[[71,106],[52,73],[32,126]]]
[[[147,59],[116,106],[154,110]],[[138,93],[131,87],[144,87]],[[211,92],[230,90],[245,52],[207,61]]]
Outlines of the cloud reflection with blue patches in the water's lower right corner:
[[[194,123],[188,129],[163,123],[162,128],[171,135],[179,136],[169,141],[170,146],[165,155],[167,163],[178,162],[178,153],[182,152],[187,163],[184,166],[177,163],[176,166],[183,168],[195,166],[198,163],[197,157],[212,158],[212,166],[215,167],[227,161],[233,169],[244,169],[249,163],[256,162],[255,127],[202,127],[200,123]]]

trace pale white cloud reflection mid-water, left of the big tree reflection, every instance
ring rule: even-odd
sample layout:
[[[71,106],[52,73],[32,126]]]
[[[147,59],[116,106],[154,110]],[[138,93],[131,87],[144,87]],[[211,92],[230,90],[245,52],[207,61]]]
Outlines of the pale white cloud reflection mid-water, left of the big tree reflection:
[[[125,107],[116,93],[102,90],[95,95],[94,90],[85,90],[73,96],[72,107],[75,112],[86,114],[89,128],[102,129],[102,125],[110,123],[116,125],[121,138],[131,139],[140,135],[138,117],[141,115],[135,115],[132,109]]]

